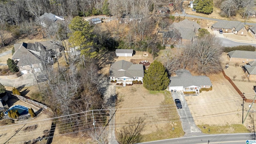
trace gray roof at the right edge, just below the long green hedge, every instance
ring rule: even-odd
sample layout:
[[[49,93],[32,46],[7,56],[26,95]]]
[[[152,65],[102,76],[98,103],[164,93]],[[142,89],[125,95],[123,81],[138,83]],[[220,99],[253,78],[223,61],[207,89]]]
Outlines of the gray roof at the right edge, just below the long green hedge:
[[[256,59],[256,52],[254,51],[245,51],[245,50],[233,50],[228,52],[230,58],[248,58]]]

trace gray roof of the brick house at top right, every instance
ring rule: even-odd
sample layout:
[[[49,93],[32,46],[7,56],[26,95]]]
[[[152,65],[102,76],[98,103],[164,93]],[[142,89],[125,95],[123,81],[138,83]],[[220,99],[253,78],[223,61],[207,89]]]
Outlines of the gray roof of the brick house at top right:
[[[213,28],[224,28],[224,29],[232,29],[235,28],[235,30],[239,31],[242,28],[244,28],[244,25],[242,22],[239,21],[228,21],[228,20],[221,20],[216,22],[215,24],[212,24]]]

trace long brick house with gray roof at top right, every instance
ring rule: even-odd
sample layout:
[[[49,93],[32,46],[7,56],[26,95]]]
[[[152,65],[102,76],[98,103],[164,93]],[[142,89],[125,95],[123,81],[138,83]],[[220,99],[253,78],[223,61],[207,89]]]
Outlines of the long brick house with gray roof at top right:
[[[225,33],[234,33],[239,36],[246,36],[247,30],[244,27],[244,24],[239,21],[228,21],[228,20],[221,20],[212,24],[212,30],[222,30]]]

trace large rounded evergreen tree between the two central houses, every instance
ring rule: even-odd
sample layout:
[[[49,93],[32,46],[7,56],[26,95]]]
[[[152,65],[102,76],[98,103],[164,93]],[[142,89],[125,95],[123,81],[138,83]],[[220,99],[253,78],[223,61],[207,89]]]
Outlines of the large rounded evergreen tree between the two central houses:
[[[143,86],[148,90],[164,90],[167,88],[170,80],[163,64],[154,61],[145,71]]]

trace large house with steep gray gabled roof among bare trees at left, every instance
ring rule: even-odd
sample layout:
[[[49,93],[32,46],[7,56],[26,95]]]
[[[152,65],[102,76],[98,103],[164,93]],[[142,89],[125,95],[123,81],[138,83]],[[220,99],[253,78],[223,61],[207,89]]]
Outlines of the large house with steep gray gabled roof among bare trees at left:
[[[39,42],[14,44],[14,51],[12,59],[18,61],[17,67],[21,74],[40,72],[42,61],[53,64],[53,55]]]

